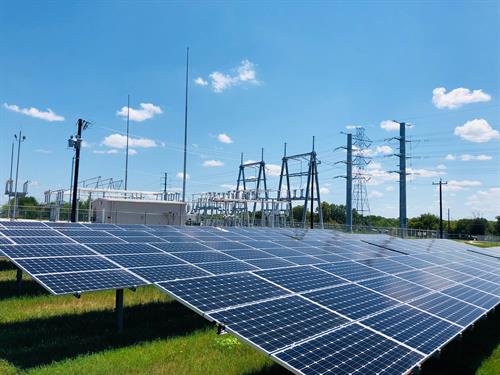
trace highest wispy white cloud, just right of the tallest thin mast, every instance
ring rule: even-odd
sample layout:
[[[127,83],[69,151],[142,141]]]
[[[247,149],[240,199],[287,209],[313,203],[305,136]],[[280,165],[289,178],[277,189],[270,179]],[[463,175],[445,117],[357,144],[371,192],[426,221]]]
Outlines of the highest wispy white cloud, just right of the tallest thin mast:
[[[231,69],[230,73],[214,71],[210,73],[208,77],[210,79],[210,86],[212,87],[212,90],[217,93],[223,92],[233,86],[247,83],[260,83],[257,80],[255,64],[250,60],[243,60],[238,67]],[[195,83],[200,86],[208,85],[208,81],[204,80],[202,77],[198,77],[195,80]]]

